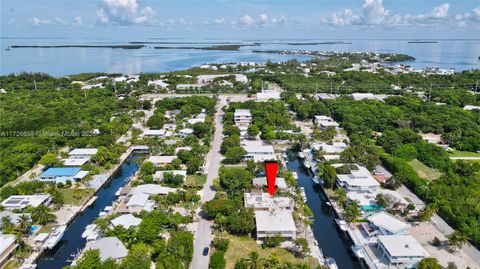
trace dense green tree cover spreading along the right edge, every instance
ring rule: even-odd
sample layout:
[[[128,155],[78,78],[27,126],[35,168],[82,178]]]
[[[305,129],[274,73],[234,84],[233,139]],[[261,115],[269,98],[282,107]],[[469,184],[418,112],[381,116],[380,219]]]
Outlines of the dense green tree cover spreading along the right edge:
[[[302,105],[289,98],[288,102],[293,109],[302,108],[304,111],[297,112],[306,118],[318,112],[334,117],[346,129],[352,142],[352,147],[342,153],[343,161],[358,162],[370,169],[382,162],[396,180],[407,185],[450,225],[480,245],[476,230],[480,220],[480,164],[453,162],[446,150],[423,141],[417,134],[434,132],[454,148],[478,151],[478,111],[436,106],[411,97],[390,97],[385,103],[350,98],[308,99]],[[408,164],[413,159],[438,169],[443,176],[434,181],[421,178]]]

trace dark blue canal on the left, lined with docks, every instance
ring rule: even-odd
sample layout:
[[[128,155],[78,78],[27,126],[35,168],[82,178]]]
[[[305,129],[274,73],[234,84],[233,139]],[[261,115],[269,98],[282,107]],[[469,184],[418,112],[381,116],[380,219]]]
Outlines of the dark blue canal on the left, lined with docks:
[[[42,254],[37,261],[37,268],[60,269],[70,264],[67,260],[71,259],[71,255],[85,247],[86,240],[82,238],[85,227],[98,217],[105,206],[112,204],[118,189],[125,185],[131,175],[137,172],[139,165],[136,160],[138,158],[138,155],[133,155],[120,166],[113,178],[97,192],[96,196],[98,198],[95,203],[79,214],[68,226],[57,246]]]

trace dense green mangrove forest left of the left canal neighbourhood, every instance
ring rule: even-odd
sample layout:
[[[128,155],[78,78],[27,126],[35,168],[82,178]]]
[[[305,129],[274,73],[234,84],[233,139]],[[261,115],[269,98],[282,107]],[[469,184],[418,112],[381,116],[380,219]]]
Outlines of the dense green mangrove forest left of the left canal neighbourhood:
[[[67,78],[44,74],[2,76],[0,87],[7,90],[0,94],[0,185],[59,148],[111,147],[131,123],[116,113],[136,106],[113,91],[80,91]]]

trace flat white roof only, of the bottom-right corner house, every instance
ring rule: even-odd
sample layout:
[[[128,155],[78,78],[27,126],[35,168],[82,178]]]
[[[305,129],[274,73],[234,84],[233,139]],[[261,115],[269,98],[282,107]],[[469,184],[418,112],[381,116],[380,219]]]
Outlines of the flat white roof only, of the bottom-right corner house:
[[[427,256],[427,251],[411,235],[379,235],[378,242],[391,256]]]

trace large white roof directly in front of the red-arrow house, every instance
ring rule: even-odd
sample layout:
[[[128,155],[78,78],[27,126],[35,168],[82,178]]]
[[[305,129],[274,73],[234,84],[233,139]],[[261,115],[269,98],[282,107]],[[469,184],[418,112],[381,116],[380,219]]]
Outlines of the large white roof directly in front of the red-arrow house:
[[[257,231],[284,232],[296,231],[292,213],[288,210],[255,211]]]

